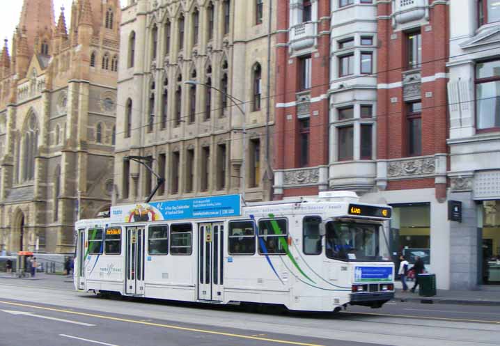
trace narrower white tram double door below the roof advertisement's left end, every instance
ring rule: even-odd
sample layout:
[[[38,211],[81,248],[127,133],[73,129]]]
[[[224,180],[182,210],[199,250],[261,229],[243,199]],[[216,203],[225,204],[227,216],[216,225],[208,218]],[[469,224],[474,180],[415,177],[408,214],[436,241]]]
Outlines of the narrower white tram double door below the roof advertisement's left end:
[[[144,244],[144,227],[127,227],[127,294],[144,294]]]

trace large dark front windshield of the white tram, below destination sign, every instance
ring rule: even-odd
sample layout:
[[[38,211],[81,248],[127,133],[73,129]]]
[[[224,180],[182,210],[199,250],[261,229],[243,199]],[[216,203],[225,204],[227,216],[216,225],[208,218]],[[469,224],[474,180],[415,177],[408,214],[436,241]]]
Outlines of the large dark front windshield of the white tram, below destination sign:
[[[380,225],[329,221],[326,225],[326,254],[335,260],[389,260],[389,246]]]

